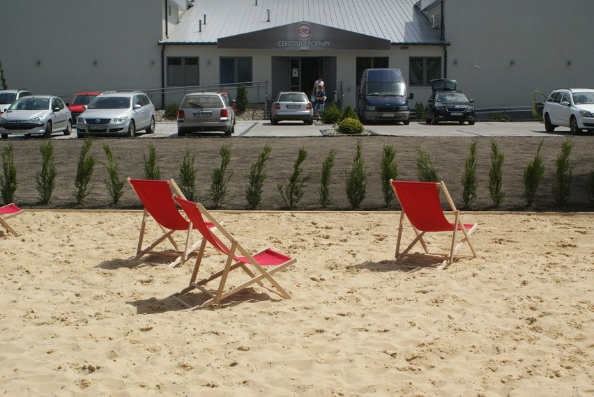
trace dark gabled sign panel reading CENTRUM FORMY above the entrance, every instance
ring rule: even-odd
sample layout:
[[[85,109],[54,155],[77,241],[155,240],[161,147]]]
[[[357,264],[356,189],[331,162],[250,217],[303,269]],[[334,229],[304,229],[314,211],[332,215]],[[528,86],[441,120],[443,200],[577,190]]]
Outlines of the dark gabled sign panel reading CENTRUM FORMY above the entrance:
[[[390,40],[305,21],[219,38],[217,45],[221,49],[390,50]]]

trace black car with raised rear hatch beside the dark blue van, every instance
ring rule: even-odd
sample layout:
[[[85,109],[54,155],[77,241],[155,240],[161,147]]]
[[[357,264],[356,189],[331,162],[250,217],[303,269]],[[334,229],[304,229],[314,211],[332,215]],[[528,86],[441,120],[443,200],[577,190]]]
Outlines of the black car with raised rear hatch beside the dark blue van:
[[[476,111],[462,91],[457,90],[457,82],[452,79],[433,79],[431,81],[432,94],[425,107],[427,124],[437,124],[440,121],[465,121],[473,125],[476,121]]]

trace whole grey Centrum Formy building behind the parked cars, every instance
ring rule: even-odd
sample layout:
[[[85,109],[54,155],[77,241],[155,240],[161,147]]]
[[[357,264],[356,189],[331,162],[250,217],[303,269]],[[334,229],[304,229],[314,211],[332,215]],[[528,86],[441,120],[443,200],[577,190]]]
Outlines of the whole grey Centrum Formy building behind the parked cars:
[[[191,87],[252,102],[309,93],[319,75],[356,107],[365,68],[402,70],[411,106],[447,77],[480,108],[594,87],[590,0],[0,0],[9,88],[68,95],[140,89],[157,107]],[[66,13],[64,10],[69,10]],[[568,29],[569,28],[569,29]],[[203,88],[200,88],[203,89]]]

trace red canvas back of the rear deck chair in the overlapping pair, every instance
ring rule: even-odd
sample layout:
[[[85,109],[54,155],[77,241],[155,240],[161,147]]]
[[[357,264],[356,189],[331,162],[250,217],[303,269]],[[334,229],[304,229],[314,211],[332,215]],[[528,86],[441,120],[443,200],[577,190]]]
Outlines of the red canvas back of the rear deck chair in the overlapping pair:
[[[188,220],[178,211],[172,200],[172,189],[167,180],[130,179],[130,184],[144,208],[161,226],[170,230],[188,228]]]

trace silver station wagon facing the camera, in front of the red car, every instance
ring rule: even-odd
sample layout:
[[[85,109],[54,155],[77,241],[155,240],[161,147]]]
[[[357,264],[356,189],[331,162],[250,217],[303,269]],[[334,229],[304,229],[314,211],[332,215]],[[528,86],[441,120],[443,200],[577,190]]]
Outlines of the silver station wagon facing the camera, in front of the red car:
[[[79,137],[87,134],[124,135],[155,132],[155,106],[142,91],[107,91],[97,95],[78,117]]]

